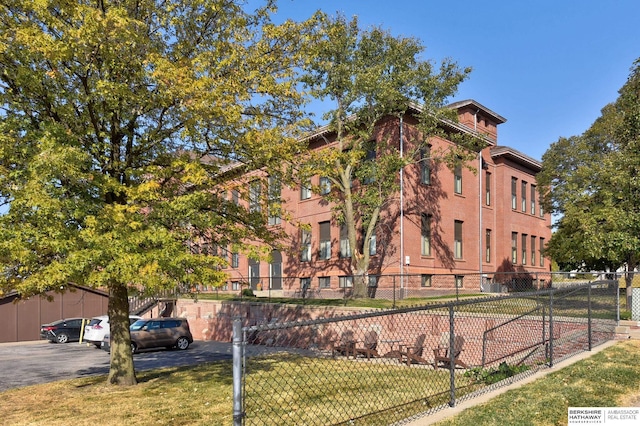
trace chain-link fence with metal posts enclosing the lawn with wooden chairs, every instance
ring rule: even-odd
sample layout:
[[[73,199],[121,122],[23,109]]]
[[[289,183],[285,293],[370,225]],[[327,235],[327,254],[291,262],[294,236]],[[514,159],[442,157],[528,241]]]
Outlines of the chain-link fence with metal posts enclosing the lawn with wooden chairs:
[[[299,322],[238,318],[234,425],[402,424],[615,336],[617,281],[547,284]]]

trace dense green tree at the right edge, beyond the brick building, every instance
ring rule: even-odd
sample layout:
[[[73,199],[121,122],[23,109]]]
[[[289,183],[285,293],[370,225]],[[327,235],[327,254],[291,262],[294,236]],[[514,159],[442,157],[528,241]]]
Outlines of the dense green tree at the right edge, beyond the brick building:
[[[538,183],[558,220],[546,252],[568,269],[633,271],[640,256],[640,62],[580,136],[542,157]]]

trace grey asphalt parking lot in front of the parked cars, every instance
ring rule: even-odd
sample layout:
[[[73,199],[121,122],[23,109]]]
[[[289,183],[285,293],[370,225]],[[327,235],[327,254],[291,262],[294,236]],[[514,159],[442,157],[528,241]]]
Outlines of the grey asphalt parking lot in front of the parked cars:
[[[133,355],[136,371],[231,360],[231,344],[194,341],[189,349]],[[47,341],[0,343],[0,392],[11,388],[109,372],[109,354],[93,345]]]

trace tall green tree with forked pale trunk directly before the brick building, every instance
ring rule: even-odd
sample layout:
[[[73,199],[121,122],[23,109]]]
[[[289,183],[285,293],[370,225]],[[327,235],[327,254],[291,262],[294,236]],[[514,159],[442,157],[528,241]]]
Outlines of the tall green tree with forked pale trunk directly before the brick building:
[[[335,134],[331,149],[315,152],[309,174],[326,177],[334,217],[347,230],[353,296],[366,295],[369,246],[381,215],[397,203],[399,172],[419,160],[416,153],[431,136],[442,135],[442,119],[457,120],[455,111],[443,108],[470,69],[452,61],[440,66],[424,60],[424,46],[414,38],[395,37],[381,28],[363,30],[357,18],[327,18],[324,38],[315,45],[307,84],[330,110],[324,115]],[[411,105],[419,105],[420,136],[401,152],[397,139],[375,138],[377,124],[386,116],[401,117]],[[452,138],[451,135],[446,137]],[[464,163],[475,155],[468,140],[446,152],[432,152],[427,161]],[[326,185],[323,182],[323,185]],[[326,192],[318,187],[319,193]]]

